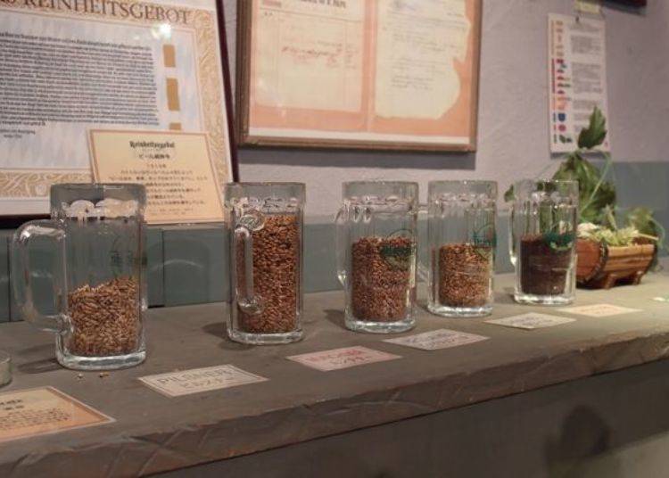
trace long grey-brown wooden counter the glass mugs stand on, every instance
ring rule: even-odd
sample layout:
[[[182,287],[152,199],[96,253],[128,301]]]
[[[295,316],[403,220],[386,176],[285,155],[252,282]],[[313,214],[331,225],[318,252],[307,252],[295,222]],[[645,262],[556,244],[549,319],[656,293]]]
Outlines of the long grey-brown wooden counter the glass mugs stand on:
[[[450,463],[458,461],[455,449],[421,449],[421,433],[425,430],[427,433],[455,433],[451,437],[454,443],[479,441],[483,449],[472,454],[472,466],[476,466],[476,453],[482,453],[483,459],[491,452],[485,448],[491,446],[486,445],[485,440],[494,433],[506,433],[502,428],[496,429],[498,418],[508,421],[509,414],[514,414],[516,417],[508,424],[513,428],[513,423],[517,423],[518,428],[512,433],[523,433],[521,423],[532,424],[539,416],[533,415],[537,407],[528,405],[529,399],[524,405],[492,400],[474,408],[467,406],[513,394],[520,394],[516,397],[522,399],[530,396],[524,392],[638,366],[669,354],[669,303],[652,300],[669,293],[669,276],[649,275],[638,287],[579,291],[577,305],[606,302],[641,309],[599,318],[576,316],[558,309],[517,306],[508,296],[512,280],[508,275],[498,278],[497,304],[492,318],[541,311],[573,317],[576,321],[524,331],[485,324],[480,318],[434,317],[421,309],[417,328],[407,334],[449,328],[490,337],[487,341],[456,348],[425,351],[382,342],[387,336],[345,330],[343,294],[314,293],[306,296],[304,341],[253,348],[225,339],[223,304],[151,309],[146,326],[147,361],[141,367],[111,372],[108,376],[96,372],[78,375],[76,371],[59,367],[54,360],[53,337],[37,332],[28,324],[0,326],[0,349],[10,351],[14,360],[13,382],[3,391],[52,385],[116,420],[113,424],[3,443],[0,445],[0,475],[127,476],[168,472],[208,462],[218,462],[223,466],[221,470],[229,463],[230,470],[239,473],[255,471],[277,476],[284,476],[291,469],[296,470],[295,473],[321,476],[339,475],[346,469],[377,473],[384,470],[374,468],[373,471],[371,465],[365,465],[364,457],[376,456],[379,461],[392,464],[397,458],[393,456],[392,447],[397,453],[404,450],[408,456],[416,457],[424,456],[425,452],[434,456],[453,452]],[[383,350],[400,355],[401,359],[330,372],[285,359],[295,354],[351,345]],[[269,380],[178,398],[163,396],[137,380],[144,375],[221,364],[232,364]],[[638,375],[643,369],[637,367],[625,373]],[[659,376],[657,370],[644,373]],[[641,386],[634,384],[637,375],[619,378],[616,383],[627,383],[633,391]],[[588,380],[594,381],[597,377]],[[603,394],[605,399],[615,394],[613,389],[607,389],[607,384],[585,382],[591,387],[591,391],[584,392],[586,394]],[[620,397],[627,396],[624,393],[628,392],[621,391]],[[569,393],[579,394],[578,391]],[[537,400],[549,406],[558,400],[558,395],[545,395]],[[498,405],[502,408],[497,411],[490,408]],[[633,404],[625,402],[624,406]],[[457,430],[435,428],[443,413],[452,413],[455,408],[466,414],[478,413],[478,407],[483,416],[471,419],[471,429],[467,420],[458,424]],[[444,412],[450,409],[451,412]],[[414,418],[427,414],[432,415]],[[454,419],[452,415],[445,417],[451,422]],[[410,419],[436,421],[421,424]],[[653,426],[664,427],[655,422]],[[375,427],[382,424],[388,427],[385,432],[384,426]],[[404,426],[402,424],[417,428],[401,431],[397,427]],[[451,423],[451,426],[454,425]],[[355,431],[368,434],[355,438]],[[417,434],[412,437],[411,433]],[[355,456],[350,448],[348,451],[339,449],[350,453],[346,456],[336,451],[337,446],[345,445],[341,440],[337,445],[338,438],[332,437],[335,434],[351,436],[351,443],[359,443]],[[520,446],[530,437],[509,438]],[[331,447],[330,452],[318,455],[322,457],[318,463],[300,461],[304,453],[318,453],[314,447],[318,447],[319,441],[314,439],[334,440],[323,442],[324,446]],[[395,441],[395,444],[386,446],[381,443],[384,440]],[[301,451],[294,448],[300,444],[310,448]],[[546,444],[537,445],[543,448]],[[508,446],[508,443],[500,440],[497,446]],[[279,447],[285,448],[277,449]],[[271,455],[262,458],[259,452],[268,449],[277,450],[265,452]],[[245,455],[251,456],[242,462],[235,462],[240,458],[233,458]],[[254,457],[258,459],[254,461]],[[268,468],[263,470],[260,464]],[[307,465],[310,467],[305,469],[303,466]],[[211,466],[200,471],[213,470]],[[201,475],[197,470],[190,472]],[[407,469],[404,471],[409,473]]]

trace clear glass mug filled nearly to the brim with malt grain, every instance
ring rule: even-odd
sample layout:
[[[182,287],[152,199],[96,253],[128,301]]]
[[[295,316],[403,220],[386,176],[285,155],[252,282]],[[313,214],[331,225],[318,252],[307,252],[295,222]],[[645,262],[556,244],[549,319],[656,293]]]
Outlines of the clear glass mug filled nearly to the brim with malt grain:
[[[305,185],[230,183],[225,207],[235,342],[276,344],[302,338],[302,228]]]

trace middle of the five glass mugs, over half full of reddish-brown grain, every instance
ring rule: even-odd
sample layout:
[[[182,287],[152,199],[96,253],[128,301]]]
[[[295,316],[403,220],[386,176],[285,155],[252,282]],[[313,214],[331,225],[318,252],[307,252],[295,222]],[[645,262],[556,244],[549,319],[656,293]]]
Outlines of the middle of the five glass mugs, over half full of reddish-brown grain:
[[[418,185],[343,184],[335,218],[344,319],[354,331],[399,333],[416,324]]]

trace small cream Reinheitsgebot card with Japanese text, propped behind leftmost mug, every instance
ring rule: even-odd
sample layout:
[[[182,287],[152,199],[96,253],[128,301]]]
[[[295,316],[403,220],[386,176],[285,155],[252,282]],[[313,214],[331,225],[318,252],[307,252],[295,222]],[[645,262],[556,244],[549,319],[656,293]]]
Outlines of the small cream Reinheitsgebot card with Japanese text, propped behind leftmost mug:
[[[223,220],[203,133],[93,130],[90,136],[95,181],[145,185],[147,223]]]

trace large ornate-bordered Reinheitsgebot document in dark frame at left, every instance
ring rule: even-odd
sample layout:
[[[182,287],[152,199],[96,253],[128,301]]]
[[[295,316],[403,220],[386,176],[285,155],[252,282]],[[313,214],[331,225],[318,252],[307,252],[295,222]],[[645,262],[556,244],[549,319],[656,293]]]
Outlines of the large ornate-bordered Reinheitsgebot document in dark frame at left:
[[[236,180],[224,24],[217,0],[0,1],[1,214],[91,181],[96,130],[203,135]]]

